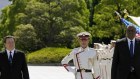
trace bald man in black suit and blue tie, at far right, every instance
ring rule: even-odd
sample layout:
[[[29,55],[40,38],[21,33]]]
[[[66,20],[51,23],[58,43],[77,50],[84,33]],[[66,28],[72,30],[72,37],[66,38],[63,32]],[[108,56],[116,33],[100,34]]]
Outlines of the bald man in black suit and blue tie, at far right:
[[[131,25],[126,38],[116,42],[111,79],[140,79],[140,39],[135,35],[136,28]]]

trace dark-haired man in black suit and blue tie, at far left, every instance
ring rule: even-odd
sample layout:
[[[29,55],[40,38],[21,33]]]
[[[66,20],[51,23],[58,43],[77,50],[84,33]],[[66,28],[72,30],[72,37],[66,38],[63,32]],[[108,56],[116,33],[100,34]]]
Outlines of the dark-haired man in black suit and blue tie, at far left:
[[[5,50],[0,53],[0,79],[29,79],[25,54],[15,49],[13,36],[4,38]]]

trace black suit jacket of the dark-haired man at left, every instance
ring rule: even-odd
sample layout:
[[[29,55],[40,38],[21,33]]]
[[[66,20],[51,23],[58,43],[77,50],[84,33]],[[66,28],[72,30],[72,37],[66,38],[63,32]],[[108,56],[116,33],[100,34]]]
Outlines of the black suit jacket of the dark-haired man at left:
[[[0,79],[29,79],[25,54],[15,50],[12,64],[8,61],[7,52],[0,53]]]

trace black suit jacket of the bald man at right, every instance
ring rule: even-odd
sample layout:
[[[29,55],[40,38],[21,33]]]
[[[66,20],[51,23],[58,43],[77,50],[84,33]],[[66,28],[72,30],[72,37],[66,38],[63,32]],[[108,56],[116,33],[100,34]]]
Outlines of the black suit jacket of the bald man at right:
[[[111,79],[127,79],[132,65],[139,77],[138,79],[140,79],[140,39],[135,39],[134,56],[132,58],[127,38],[123,38],[116,42]]]

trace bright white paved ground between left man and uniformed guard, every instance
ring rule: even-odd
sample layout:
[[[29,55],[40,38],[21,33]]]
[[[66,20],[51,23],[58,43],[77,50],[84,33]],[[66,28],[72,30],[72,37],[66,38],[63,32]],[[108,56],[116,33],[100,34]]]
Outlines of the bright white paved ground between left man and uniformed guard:
[[[28,66],[30,79],[74,79],[62,66]]]

